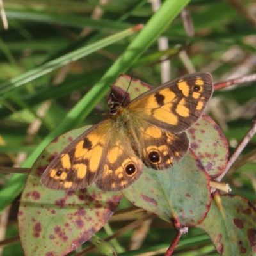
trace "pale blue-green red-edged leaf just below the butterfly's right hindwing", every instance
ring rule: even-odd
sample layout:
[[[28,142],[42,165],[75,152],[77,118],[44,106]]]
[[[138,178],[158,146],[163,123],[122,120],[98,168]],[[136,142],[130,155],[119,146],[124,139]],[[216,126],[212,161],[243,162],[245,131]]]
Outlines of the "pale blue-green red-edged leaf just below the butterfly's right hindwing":
[[[209,190],[208,175],[191,152],[172,168],[147,169],[122,193],[132,204],[182,228],[204,220],[211,205]]]

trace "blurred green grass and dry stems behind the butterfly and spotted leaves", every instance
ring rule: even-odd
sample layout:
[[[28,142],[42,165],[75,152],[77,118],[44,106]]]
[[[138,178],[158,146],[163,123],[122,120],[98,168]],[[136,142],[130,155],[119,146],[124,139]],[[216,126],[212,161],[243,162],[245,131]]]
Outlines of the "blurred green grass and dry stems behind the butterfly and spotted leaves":
[[[187,3],[191,22],[177,16]],[[207,71],[216,83],[255,72],[253,0],[169,0],[154,18],[152,3],[144,0],[8,0],[3,4],[8,29],[2,25],[0,30],[0,166],[29,168],[56,136],[101,120],[95,113],[106,110],[109,86],[120,72],[133,72],[152,85],[162,83],[163,73],[172,79]],[[4,24],[3,12],[1,17]],[[140,37],[138,27],[129,30],[138,24],[147,24]],[[163,45],[157,42],[159,35],[168,42],[166,50],[159,49]],[[163,59],[170,61],[170,68],[163,69]],[[207,111],[223,130],[232,153],[255,118],[255,82],[214,92]],[[225,178],[232,193],[253,204],[255,145],[254,136]],[[18,234],[17,207],[25,179],[23,174],[0,173],[0,240]],[[120,209],[129,205],[123,200]],[[118,230],[137,218],[140,215],[128,214],[109,223]],[[100,236],[109,232],[102,230]],[[118,237],[115,248],[120,255],[128,246],[139,248],[138,254],[147,250],[155,253],[148,255],[157,255],[156,250],[164,252],[174,234],[171,226],[154,218]],[[182,237],[175,252],[218,255],[207,235],[196,228]],[[23,255],[19,243],[0,253]]]

